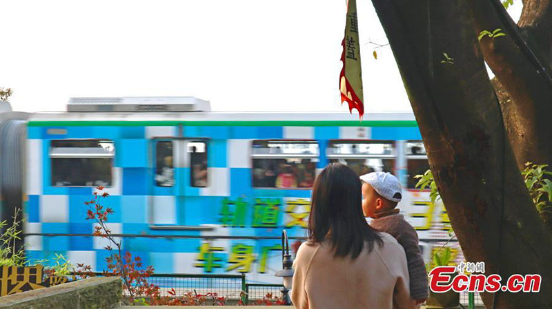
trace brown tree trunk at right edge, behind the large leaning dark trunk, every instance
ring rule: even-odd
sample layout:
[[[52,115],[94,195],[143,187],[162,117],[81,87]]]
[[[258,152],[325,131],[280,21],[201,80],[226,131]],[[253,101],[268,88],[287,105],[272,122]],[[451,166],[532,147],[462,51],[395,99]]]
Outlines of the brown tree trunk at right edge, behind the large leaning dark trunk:
[[[495,0],[492,0],[495,1]],[[545,72],[513,40],[515,33],[498,18],[491,1],[469,0],[473,10],[474,35],[483,30],[500,28],[506,36],[495,39],[484,36],[480,46],[487,64],[511,97],[503,105],[504,124],[513,146],[517,164],[525,162],[552,166],[552,85],[543,74],[551,72],[552,3],[550,0],[526,0],[519,21],[520,32],[529,43]],[[509,19],[509,17],[508,17]],[[510,23],[513,25],[513,21]],[[514,28],[517,28],[513,25]]]

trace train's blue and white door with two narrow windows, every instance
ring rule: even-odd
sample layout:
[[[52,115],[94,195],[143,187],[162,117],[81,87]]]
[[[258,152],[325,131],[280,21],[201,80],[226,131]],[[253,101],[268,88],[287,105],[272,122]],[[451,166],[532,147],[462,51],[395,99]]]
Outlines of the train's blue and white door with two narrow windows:
[[[208,141],[201,138],[153,140],[153,227],[186,225],[186,196],[208,186]]]

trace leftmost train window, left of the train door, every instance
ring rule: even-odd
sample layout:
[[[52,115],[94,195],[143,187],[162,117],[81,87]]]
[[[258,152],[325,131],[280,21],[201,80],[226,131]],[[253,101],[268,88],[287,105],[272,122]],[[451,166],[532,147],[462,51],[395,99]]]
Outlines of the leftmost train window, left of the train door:
[[[52,186],[110,187],[114,156],[111,140],[52,140]]]

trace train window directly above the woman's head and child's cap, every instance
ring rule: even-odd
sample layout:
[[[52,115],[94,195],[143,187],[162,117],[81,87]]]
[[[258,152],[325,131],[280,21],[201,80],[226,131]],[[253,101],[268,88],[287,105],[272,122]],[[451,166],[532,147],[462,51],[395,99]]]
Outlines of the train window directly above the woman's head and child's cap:
[[[395,145],[392,141],[331,140],[326,150],[331,163],[350,167],[357,175],[395,168]]]

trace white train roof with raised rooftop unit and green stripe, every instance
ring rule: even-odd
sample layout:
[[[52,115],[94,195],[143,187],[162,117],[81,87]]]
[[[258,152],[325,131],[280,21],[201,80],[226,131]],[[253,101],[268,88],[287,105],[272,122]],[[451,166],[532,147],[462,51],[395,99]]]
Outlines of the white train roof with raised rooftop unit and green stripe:
[[[191,96],[70,98],[67,106],[67,112],[32,114],[29,125],[417,126],[411,112],[367,113],[363,121],[335,111],[223,112],[210,111],[209,101]]]

